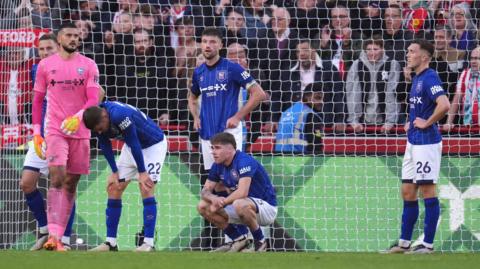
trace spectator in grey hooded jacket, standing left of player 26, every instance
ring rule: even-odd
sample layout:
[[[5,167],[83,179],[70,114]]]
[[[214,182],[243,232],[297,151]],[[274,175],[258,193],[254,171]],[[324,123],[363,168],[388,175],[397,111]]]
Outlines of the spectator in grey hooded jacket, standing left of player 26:
[[[400,72],[400,64],[385,54],[382,40],[365,43],[346,84],[347,122],[355,132],[363,131],[362,124],[381,124],[381,131],[389,133],[397,123],[400,107],[395,93]]]

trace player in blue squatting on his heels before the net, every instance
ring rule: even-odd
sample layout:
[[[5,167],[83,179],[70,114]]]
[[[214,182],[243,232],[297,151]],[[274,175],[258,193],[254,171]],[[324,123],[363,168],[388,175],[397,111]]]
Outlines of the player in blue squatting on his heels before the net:
[[[230,223],[247,225],[255,251],[266,251],[260,226],[271,225],[277,216],[275,190],[267,172],[252,156],[236,150],[232,134],[219,133],[210,142],[215,163],[202,189],[198,212],[222,230]],[[219,183],[227,188],[227,197],[213,194]]]

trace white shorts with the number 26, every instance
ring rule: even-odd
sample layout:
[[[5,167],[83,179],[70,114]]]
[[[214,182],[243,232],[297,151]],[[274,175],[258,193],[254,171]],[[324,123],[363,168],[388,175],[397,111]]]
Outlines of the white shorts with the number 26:
[[[402,182],[437,184],[441,158],[442,142],[428,145],[412,145],[407,142],[402,164]]]

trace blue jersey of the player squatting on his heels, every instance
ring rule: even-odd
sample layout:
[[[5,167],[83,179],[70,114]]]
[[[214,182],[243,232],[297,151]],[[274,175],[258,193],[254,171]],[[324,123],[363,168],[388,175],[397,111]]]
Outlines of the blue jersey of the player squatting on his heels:
[[[230,166],[214,163],[210,169],[208,179],[223,182],[230,191],[238,188],[240,178],[250,177],[248,196],[266,201],[270,205],[277,205],[277,197],[270,177],[265,168],[252,156],[237,151]]]

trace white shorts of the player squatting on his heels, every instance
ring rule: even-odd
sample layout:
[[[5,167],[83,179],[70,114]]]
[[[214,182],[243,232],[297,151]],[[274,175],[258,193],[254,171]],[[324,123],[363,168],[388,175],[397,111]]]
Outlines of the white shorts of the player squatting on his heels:
[[[277,217],[278,208],[276,206],[272,206],[266,201],[254,197],[248,197],[248,199],[252,200],[252,202],[257,207],[257,222],[260,226],[268,226],[273,224],[275,218]],[[244,224],[240,217],[235,212],[235,208],[233,205],[227,205],[224,207],[225,212],[228,215],[228,223],[235,223],[235,224]]]

